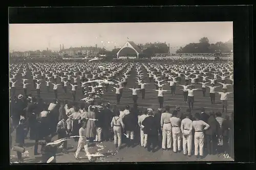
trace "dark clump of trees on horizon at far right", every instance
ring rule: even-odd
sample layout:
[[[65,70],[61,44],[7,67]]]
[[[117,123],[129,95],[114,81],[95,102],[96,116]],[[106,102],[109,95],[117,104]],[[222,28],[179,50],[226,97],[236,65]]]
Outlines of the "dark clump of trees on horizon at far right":
[[[184,47],[180,47],[176,53],[229,53],[233,49],[232,44],[224,42],[209,43],[207,37],[202,37],[199,43],[189,43]]]

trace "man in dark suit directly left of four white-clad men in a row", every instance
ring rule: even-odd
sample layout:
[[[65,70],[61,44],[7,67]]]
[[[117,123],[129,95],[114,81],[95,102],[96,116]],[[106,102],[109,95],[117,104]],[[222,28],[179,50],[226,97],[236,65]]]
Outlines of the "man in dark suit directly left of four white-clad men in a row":
[[[155,152],[158,138],[157,120],[153,116],[152,109],[148,109],[147,115],[148,117],[146,117],[142,122],[142,125],[144,126],[144,134],[147,134],[147,151]]]

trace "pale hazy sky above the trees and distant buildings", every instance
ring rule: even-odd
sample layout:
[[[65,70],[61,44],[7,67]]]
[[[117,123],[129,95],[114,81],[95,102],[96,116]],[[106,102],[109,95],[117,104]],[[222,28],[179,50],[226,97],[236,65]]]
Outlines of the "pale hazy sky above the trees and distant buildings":
[[[138,22],[138,23],[59,23],[10,24],[10,51],[59,50],[79,46],[122,46],[127,37],[138,43],[166,42],[170,47],[184,46],[208,37],[210,43],[233,37],[232,22]],[[103,41],[103,43],[101,42]],[[108,43],[109,41],[109,43]],[[176,51],[177,49],[174,49]]]

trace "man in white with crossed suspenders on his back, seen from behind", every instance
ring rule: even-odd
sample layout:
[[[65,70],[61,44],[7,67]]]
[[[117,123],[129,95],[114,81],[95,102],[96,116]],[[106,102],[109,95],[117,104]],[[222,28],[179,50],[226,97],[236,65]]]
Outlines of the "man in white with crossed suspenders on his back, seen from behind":
[[[120,149],[122,144],[122,129],[124,129],[124,124],[122,118],[119,117],[120,111],[115,111],[115,116],[112,118],[111,121],[111,128],[114,132],[114,143],[115,147]]]

